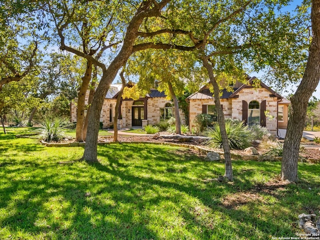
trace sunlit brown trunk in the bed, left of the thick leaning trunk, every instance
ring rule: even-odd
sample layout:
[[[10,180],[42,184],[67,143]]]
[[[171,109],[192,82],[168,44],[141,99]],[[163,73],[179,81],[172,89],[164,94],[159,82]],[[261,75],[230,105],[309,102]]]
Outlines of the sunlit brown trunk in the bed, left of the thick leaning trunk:
[[[76,109],[76,126],[75,126],[75,141],[83,142],[83,125],[84,125],[84,108],[85,108],[85,93],[91,79],[92,61],[86,61],[86,69],[82,77],[82,83],[78,93],[78,102]]]

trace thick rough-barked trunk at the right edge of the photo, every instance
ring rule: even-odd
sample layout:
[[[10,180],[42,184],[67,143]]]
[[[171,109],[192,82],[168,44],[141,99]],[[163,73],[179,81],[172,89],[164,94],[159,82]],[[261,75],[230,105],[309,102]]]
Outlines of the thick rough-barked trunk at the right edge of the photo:
[[[312,41],[302,80],[291,100],[291,117],[288,121],[283,145],[281,179],[298,180],[298,154],[306,108],[320,79],[320,1],[312,0],[311,7]]]

